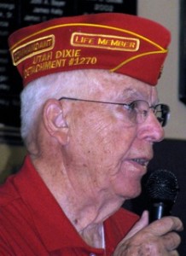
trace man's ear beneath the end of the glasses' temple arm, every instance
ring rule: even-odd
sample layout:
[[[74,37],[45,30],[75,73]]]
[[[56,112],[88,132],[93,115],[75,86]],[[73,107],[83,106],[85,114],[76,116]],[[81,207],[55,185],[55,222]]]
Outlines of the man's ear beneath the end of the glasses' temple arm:
[[[60,143],[66,144],[68,140],[68,125],[61,102],[49,99],[44,104],[44,126],[50,136],[55,137]]]

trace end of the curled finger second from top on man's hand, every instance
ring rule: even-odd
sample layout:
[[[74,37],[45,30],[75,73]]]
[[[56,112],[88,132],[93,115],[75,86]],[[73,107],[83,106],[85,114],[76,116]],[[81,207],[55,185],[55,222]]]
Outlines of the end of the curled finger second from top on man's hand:
[[[168,233],[166,236],[162,236],[162,238],[167,251],[170,252],[175,250],[181,242],[181,238],[176,232]]]

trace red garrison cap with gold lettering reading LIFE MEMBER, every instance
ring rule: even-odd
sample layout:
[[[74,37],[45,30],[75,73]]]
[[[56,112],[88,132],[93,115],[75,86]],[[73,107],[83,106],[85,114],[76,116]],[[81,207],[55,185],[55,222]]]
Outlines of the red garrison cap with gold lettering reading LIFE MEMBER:
[[[62,17],[27,26],[9,37],[12,60],[26,85],[50,73],[106,69],[155,85],[171,35],[135,15]]]

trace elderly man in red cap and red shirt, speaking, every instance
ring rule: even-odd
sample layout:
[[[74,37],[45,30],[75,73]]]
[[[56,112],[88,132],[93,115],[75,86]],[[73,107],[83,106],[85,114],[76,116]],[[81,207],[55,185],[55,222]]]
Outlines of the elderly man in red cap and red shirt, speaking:
[[[1,255],[177,255],[182,222],[121,208],[164,137],[157,84],[170,33],[123,14],[15,32],[27,156],[0,189]]]

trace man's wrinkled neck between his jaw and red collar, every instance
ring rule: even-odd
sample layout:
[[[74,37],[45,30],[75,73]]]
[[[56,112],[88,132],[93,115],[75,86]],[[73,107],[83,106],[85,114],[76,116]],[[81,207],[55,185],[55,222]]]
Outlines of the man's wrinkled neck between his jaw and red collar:
[[[121,202],[103,199],[101,193],[96,196],[90,188],[86,193],[74,188],[67,173],[60,171],[62,164],[59,162],[57,167],[39,160],[33,160],[33,164],[79,235],[90,246],[102,247],[103,221],[120,207]]]

